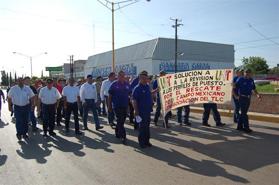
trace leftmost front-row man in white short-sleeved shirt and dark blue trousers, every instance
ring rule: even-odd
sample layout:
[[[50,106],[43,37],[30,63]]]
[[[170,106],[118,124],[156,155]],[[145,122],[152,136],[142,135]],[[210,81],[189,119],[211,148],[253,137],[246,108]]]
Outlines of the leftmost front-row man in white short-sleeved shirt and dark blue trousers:
[[[9,111],[12,112],[11,103],[14,104],[14,113],[16,118],[17,138],[21,140],[22,137],[28,138],[28,116],[29,116],[29,98],[32,102],[31,111],[35,109],[34,93],[32,90],[23,85],[23,78],[17,79],[17,86],[13,86],[8,94]]]

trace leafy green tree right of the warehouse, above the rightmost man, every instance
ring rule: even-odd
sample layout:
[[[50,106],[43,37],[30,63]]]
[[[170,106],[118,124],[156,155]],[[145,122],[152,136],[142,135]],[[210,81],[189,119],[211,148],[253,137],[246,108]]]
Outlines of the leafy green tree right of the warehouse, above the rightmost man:
[[[261,57],[243,57],[242,65],[239,66],[242,69],[250,68],[253,75],[267,74],[269,71],[268,67],[267,61]]]

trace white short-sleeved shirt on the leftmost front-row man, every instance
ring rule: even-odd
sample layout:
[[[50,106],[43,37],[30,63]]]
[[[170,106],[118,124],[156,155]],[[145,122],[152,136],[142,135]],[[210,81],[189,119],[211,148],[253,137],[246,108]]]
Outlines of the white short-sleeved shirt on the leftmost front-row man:
[[[33,91],[29,87],[24,85],[22,89],[18,85],[12,87],[8,94],[8,97],[12,98],[13,104],[18,106],[27,105],[29,103],[29,98],[33,96]]]

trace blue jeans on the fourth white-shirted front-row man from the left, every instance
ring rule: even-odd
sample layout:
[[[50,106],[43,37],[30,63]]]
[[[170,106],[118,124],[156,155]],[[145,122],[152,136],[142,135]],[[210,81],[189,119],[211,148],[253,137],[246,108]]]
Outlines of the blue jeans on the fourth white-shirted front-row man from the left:
[[[85,99],[86,106],[83,105],[83,126],[87,126],[87,117],[88,117],[88,111],[89,108],[91,109],[95,121],[95,126],[99,127],[99,118],[98,118],[98,113],[97,113],[97,105],[95,103],[94,99]]]

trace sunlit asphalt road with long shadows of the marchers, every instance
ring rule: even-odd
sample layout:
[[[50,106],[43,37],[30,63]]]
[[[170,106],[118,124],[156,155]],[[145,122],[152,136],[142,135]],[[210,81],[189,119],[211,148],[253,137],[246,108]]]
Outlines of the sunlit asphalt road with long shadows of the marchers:
[[[175,112],[173,112],[175,113]],[[152,118],[153,118],[152,114]],[[220,128],[201,126],[200,114],[190,114],[191,126],[170,119],[170,129],[151,125],[152,147],[141,149],[138,131],[126,120],[127,142],[121,144],[107,118],[96,131],[90,116],[88,131],[76,135],[55,127],[57,136],[43,137],[29,129],[18,141],[15,119],[2,104],[0,121],[0,184],[278,184],[279,124],[251,121],[252,133],[237,131],[231,118]]]

